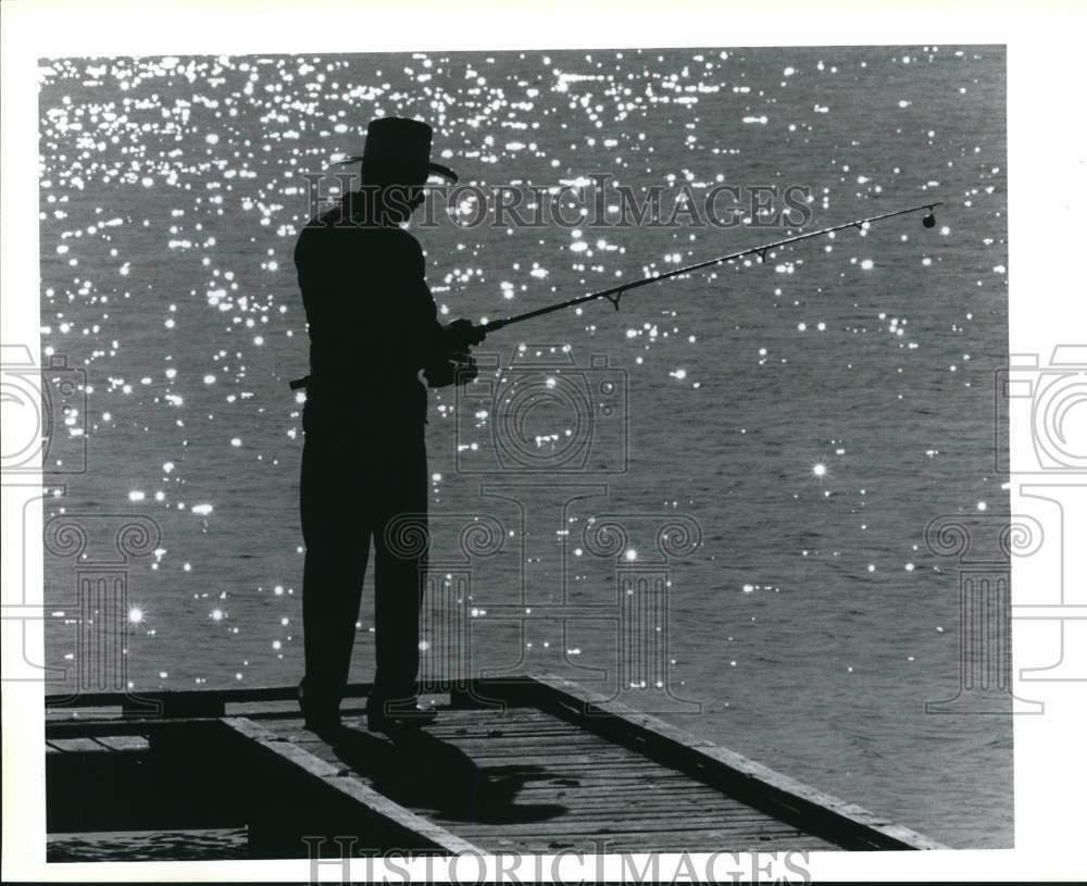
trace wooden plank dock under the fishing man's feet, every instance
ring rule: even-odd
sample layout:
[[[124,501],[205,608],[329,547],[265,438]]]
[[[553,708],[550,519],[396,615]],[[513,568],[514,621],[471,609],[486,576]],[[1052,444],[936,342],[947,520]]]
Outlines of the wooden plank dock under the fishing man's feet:
[[[293,688],[49,699],[49,859],[946,848],[570,681],[442,688],[396,741],[364,685],[332,741]]]

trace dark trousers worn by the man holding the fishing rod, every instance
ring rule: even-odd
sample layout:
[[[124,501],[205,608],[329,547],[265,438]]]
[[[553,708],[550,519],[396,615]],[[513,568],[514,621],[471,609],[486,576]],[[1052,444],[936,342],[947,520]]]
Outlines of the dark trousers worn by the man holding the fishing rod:
[[[305,423],[315,424],[315,423]],[[374,697],[411,698],[428,546],[425,424],[308,427],[302,449],[303,695],[339,703],[374,540]]]

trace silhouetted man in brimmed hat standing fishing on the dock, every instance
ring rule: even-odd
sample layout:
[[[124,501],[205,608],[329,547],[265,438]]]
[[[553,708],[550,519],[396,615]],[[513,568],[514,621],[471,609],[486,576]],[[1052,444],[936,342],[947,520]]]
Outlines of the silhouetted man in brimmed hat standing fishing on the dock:
[[[376,658],[367,701],[373,729],[417,725],[418,614],[426,565],[426,387],[458,375],[468,321],[441,326],[418,242],[401,226],[432,174],[430,127],[384,117],[370,124],[362,187],[312,220],[295,248],[310,332],[302,426],[305,540],[302,620],[307,725],[339,726],[370,541],[375,549]]]

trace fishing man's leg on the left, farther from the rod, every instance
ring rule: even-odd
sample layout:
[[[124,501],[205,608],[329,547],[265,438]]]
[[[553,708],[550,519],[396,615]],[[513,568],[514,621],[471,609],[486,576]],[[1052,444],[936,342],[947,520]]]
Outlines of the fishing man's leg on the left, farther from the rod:
[[[307,434],[302,449],[305,676],[301,688],[303,704],[321,713],[338,709],[347,685],[370,554],[359,469],[337,450],[334,442],[313,433]]]

